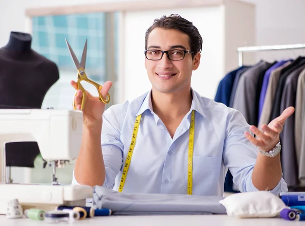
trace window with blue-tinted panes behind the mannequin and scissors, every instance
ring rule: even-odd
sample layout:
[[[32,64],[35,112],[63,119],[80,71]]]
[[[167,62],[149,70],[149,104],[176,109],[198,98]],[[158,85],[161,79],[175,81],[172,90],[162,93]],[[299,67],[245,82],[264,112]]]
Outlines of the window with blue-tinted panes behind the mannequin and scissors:
[[[87,39],[87,76],[99,84],[106,80],[113,82],[115,90],[117,80],[118,58],[118,13],[89,13],[60,16],[43,16],[32,18],[32,48],[39,54],[56,63],[59,69],[59,80],[47,92],[42,108],[72,109],[75,94],[70,85],[77,78],[77,71],[70,56],[65,39],[71,45],[78,60]],[[84,88],[98,95],[93,85],[82,82]],[[110,93],[113,104],[115,91]],[[43,160],[35,160],[35,169],[31,170],[32,183],[50,183],[52,169],[46,167],[41,171]],[[69,184],[72,181],[74,165],[57,169],[59,182]]]

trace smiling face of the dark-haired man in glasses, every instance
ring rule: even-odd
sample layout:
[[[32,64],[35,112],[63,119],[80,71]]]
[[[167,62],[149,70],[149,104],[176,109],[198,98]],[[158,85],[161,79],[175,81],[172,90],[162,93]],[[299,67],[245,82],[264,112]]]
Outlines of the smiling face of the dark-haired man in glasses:
[[[174,29],[155,28],[148,36],[147,49],[191,50],[191,47],[188,35]],[[162,93],[189,91],[192,71],[198,68],[199,60],[200,53],[197,53],[194,59],[191,53],[186,53],[182,60],[170,60],[166,53],[160,60],[145,58],[145,68],[153,90]]]

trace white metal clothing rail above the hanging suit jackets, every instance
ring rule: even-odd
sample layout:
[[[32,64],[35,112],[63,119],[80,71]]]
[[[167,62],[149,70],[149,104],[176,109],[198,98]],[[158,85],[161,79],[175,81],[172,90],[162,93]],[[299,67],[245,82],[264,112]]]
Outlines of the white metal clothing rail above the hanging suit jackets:
[[[242,66],[242,57],[244,52],[258,52],[270,50],[287,50],[287,49],[305,49],[305,44],[291,44],[291,45],[273,45],[273,46],[246,46],[238,47],[238,66]]]

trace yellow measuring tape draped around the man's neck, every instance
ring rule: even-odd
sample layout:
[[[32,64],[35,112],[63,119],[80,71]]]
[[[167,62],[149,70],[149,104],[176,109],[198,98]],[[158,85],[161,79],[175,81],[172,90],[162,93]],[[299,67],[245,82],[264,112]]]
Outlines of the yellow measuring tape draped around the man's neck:
[[[130,162],[132,153],[136,144],[137,135],[138,135],[138,128],[141,121],[141,116],[138,115],[136,118],[134,131],[131,139],[131,144],[129,147],[129,151],[126,157],[125,166],[123,169],[122,177],[119,183],[118,191],[122,192],[123,187],[126,181],[127,173],[129,170]],[[191,115],[191,125],[190,125],[190,134],[189,134],[189,154],[188,154],[188,195],[192,195],[193,190],[193,150],[194,150],[194,131],[195,131],[195,111],[192,111]]]

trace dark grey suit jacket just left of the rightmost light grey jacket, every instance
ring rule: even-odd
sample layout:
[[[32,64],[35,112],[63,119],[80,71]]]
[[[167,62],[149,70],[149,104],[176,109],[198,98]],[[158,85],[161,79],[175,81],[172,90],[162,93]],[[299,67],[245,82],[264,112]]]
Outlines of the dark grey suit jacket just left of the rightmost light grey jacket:
[[[300,66],[288,75],[281,100],[281,113],[290,106],[295,107],[297,81],[303,69],[305,69],[305,65]],[[294,114],[287,118],[280,138],[282,143],[283,178],[288,186],[295,187],[298,185],[298,170],[294,143]]]

